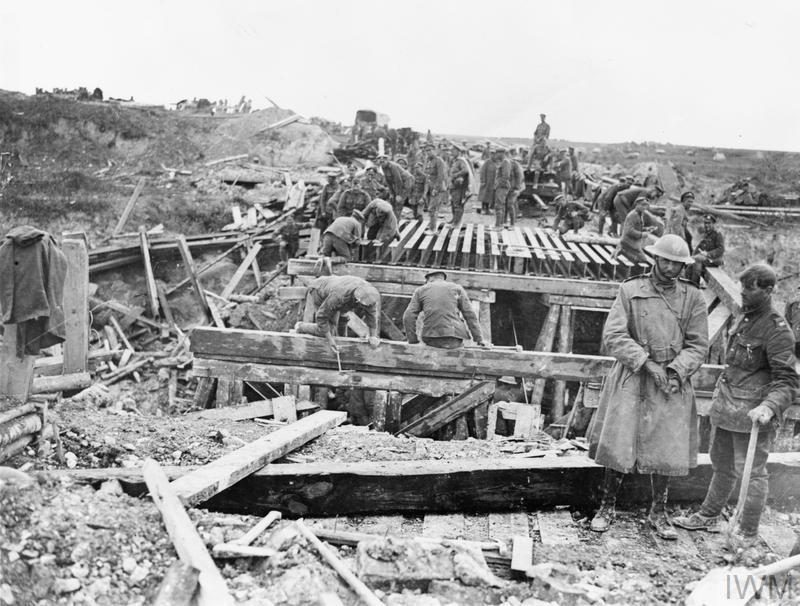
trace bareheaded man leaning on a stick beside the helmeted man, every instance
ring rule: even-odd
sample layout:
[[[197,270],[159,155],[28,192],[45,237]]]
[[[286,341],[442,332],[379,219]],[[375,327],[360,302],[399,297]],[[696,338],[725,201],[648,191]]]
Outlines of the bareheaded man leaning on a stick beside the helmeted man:
[[[736,533],[745,544],[758,540],[767,501],[767,457],[783,412],[797,396],[794,335],[772,305],[777,282],[769,265],[755,264],[739,276],[742,310],[730,329],[725,368],[711,404],[711,466],[714,475],[700,511],[675,518],[688,530],[718,530],[722,508],[742,475],[749,434],[758,424],[753,469]]]

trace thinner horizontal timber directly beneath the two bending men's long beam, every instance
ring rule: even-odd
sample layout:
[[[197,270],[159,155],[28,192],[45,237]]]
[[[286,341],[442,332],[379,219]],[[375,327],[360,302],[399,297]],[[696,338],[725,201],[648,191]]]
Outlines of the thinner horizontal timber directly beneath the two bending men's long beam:
[[[357,373],[352,371],[340,373],[334,369],[304,368],[297,365],[241,364],[203,358],[195,359],[192,372],[196,377],[208,378],[209,380],[235,373],[235,376],[243,381],[394,390],[402,393],[419,393],[435,397],[461,393],[469,387],[468,379],[418,377],[417,379],[409,380],[407,376],[389,373]],[[198,404],[195,405],[199,406]]]

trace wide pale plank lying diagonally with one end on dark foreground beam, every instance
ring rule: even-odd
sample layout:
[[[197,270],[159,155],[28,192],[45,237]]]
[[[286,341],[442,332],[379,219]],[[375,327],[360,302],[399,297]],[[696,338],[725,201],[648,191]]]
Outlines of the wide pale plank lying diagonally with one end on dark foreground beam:
[[[253,471],[341,425],[346,419],[345,412],[315,412],[175,480],[171,484],[172,490],[187,505],[202,503]]]

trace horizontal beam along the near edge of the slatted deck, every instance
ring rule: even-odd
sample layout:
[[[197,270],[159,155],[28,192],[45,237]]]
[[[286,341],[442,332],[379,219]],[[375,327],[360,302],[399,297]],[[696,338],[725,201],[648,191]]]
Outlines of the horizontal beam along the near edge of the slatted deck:
[[[394,282],[397,284],[425,284],[425,274],[430,268],[397,267],[394,265],[371,265],[344,263],[334,265],[337,275],[363,278],[367,282]],[[447,269],[448,280],[470,290],[514,290],[517,292],[550,293],[573,297],[613,299],[619,290],[618,282],[600,282],[567,278],[550,278],[518,274],[500,274]],[[290,259],[287,273],[290,276],[313,276],[313,259]]]

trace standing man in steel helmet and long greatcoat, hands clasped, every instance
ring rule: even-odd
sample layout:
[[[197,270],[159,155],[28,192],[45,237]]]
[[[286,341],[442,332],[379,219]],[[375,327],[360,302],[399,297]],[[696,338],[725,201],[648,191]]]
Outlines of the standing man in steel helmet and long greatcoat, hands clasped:
[[[603,327],[603,351],[616,358],[589,427],[589,456],[603,465],[603,498],[592,519],[608,530],[626,474],[650,475],[648,521],[662,539],[677,533],[667,516],[670,476],[697,466],[697,410],[691,376],[708,352],[700,290],[678,280],[689,247],[668,234],[647,247],[649,274],[622,283]]]

